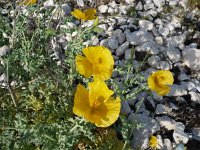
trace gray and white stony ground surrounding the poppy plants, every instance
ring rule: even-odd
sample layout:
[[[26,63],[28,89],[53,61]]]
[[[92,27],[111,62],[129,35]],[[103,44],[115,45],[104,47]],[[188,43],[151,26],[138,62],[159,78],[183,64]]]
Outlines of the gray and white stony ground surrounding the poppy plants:
[[[108,47],[115,65],[132,61],[138,68],[147,55],[141,73],[148,77],[155,70],[170,70],[175,82],[167,96],[149,95],[142,92],[136,98],[122,102],[121,113],[130,122],[145,124],[144,128],[133,131],[131,147],[148,147],[149,136],[156,135],[159,148],[165,150],[200,149],[200,11],[198,6],[189,7],[188,0],[92,0],[65,2],[62,5],[65,15],[70,15],[73,7],[97,8],[99,27],[104,32],[92,37],[87,45]],[[55,7],[49,0],[45,7]],[[1,9],[1,13],[6,9]],[[91,26],[93,21],[82,26]],[[76,23],[62,25],[67,28]],[[59,44],[72,39],[63,33]],[[64,46],[63,46],[63,49]],[[134,54],[132,56],[132,49]],[[9,48],[0,48],[0,56]],[[130,73],[130,76],[134,75]],[[114,78],[118,78],[117,74]],[[2,82],[4,75],[1,75]],[[140,100],[143,102],[140,103]],[[136,112],[137,106],[139,110]]]

